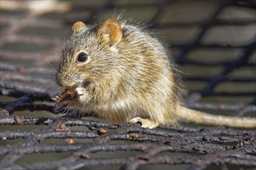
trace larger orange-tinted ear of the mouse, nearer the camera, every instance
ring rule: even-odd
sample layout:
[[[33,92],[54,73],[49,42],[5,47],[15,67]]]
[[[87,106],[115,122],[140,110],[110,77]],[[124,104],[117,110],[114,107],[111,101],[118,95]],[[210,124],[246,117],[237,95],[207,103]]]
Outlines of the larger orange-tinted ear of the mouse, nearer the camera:
[[[115,46],[123,36],[120,22],[111,17],[104,20],[97,29],[97,36],[100,36],[103,44],[107,46]]]

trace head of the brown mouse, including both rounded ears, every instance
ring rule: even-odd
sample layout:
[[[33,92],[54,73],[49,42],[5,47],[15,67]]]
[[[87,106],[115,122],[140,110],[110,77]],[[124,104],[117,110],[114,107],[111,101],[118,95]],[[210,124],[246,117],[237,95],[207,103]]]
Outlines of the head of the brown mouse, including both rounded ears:
[[[95,26],[75,22],[57,71],[61,87],[83,87],[108,80],[116,72],[123,30],[115,18]]]

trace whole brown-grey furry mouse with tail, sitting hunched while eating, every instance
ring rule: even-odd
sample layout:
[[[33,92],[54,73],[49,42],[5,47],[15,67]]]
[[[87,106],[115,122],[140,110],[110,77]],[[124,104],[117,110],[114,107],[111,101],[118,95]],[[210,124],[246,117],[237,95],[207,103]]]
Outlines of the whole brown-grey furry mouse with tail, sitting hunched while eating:
[[[75,22],[63,50],[57,84],[76,87],[71,107],[112,123],[143,128],[191,121],[255,128],[253,117],[224,117],[183,107],[175,64],[161,42],[140,27],[108,18],[99,25]]]

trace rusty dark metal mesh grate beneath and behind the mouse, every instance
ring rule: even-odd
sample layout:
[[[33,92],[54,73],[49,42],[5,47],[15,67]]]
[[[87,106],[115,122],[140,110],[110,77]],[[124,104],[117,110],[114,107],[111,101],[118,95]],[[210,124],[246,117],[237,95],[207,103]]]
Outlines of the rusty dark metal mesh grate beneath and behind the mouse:
[[[77,120],[54,115],[50,100],[71,24],[123,12],[171,44],[185,73],[187,107],[255,116],[254,1],[33,2],[1,1],[1,169],[256,167],[255,130]]]

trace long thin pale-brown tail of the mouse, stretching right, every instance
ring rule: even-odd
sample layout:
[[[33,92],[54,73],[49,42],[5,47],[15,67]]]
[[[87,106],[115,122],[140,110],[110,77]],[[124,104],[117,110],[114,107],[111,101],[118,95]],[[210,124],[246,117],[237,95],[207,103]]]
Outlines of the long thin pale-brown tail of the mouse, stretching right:
[[[196,124],[209,124],[232,128],[256,128],[255,117],[230,117],[206,114],[204,112],[182,106],[178,106],[178,117],[181,121],[190,121]]]

